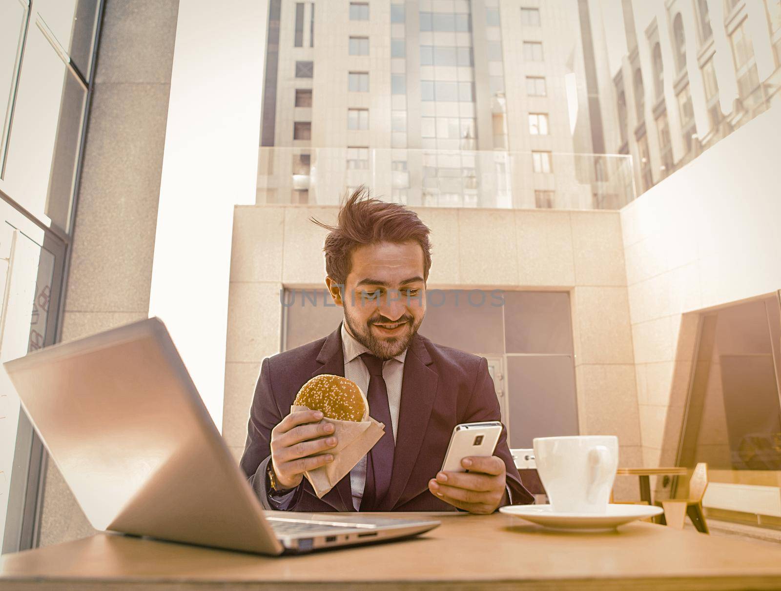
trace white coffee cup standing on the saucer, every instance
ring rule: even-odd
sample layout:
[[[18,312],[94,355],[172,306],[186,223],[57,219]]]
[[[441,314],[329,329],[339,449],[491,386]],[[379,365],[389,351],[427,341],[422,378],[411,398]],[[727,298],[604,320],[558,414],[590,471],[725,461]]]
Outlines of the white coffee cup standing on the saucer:
[[[534,461],[551,507],[561,513],[604,513],[619,465],[615,435],[536,437]]]

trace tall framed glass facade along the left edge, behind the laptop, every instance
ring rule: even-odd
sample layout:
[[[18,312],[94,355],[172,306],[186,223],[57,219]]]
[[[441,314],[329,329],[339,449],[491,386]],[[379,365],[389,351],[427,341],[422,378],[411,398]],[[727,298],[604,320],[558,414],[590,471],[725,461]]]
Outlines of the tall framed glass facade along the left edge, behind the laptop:
[[[0,361],[52,345],[99,0],[0,0]],[[0,543],[34,547],[43,448],[0,372]]]

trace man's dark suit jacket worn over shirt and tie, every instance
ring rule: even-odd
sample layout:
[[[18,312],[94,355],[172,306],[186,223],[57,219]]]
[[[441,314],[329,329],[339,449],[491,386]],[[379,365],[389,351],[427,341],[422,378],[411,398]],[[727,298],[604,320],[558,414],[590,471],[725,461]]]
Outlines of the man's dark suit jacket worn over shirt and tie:
[[[298,390],[319,373],[344,376],[341,331],[263,360],[252,400],[247,444],[241,469],[264,508],[269,504],[266,466],[270,461],[271,430],[290,412]],[[409,344],[401,380],[396,451],[391,488],[383,511],[456,511],[428,490],[442,467],[453,427],[458,423],[499,420],[500,410],[488,363],[478,357],[435,345],[416,334]],[[494,452],[505,461],[507,484],[514,504],[532,503],[523,487],[502,429]],[[344,476],[322,499],[308,480],[301,480],[292,511],[354,511],[350,475]]]

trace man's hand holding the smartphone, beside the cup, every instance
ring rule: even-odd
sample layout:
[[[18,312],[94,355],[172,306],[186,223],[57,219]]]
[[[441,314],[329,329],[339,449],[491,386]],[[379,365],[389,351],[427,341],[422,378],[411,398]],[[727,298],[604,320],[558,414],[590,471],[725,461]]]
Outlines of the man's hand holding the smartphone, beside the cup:
[[[505,462],[497,456],[462,459],[469,472],[438,472],[429,490],[446,503],[470,513],[493,513],[505,501]]]

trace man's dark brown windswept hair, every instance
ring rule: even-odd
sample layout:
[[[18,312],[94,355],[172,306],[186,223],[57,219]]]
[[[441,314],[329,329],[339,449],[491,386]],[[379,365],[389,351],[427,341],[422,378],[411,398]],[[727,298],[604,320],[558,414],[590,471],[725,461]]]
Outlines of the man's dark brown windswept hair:
[[[337,285],[347,281],[352,251],[376,242],[417,242],[423,249],[423,280],[429,278],[431,242],[428,226],[420,221],[418,214],[403,205],[374,199],[363,185],[343,201],[336,225],[315,218],[309,220],[329,230],[323,246],[326,273]]]

